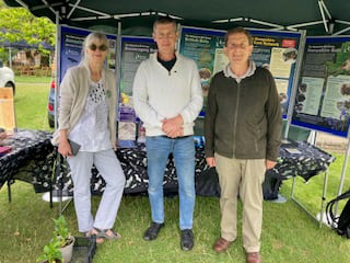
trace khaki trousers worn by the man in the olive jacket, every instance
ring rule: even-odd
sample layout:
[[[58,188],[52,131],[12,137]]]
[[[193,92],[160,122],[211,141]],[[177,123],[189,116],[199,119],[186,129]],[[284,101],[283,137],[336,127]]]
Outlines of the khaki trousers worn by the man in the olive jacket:
[[[262,182],[265,159],[234,159],[215,153],[221,187],[221,237],[237,237],[237,198],[243,203],[243,247],[246,252],[260,250],[262,226]]]

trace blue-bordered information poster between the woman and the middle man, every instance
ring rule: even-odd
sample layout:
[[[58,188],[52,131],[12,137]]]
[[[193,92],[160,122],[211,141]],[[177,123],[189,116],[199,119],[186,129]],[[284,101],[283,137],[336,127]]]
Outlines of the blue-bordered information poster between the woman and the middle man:
[[[118,108],[118,138],[122,146],[132,147],[142,124],[137,119],[132,103],[132,83],[139,65],[156,52],[156,44],[151,37],[121,37],[121,72]],[[140,136],[139,136],[140,137]]]

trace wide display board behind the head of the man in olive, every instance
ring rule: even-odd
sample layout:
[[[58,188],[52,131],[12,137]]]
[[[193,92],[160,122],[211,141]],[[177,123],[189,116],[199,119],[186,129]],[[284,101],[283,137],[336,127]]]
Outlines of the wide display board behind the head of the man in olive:
[[[265,67],[272,73],[280,95],[283,118],[287,118],[301,33],[264,30],[249,32],[254,44],[252,59],[258,67]],[[223,50],[224,35],[224,31],[182,27],[179,53],[197,62],[201,78],[205,103],[200,116],[205,116],[211,77],[229,64]]]

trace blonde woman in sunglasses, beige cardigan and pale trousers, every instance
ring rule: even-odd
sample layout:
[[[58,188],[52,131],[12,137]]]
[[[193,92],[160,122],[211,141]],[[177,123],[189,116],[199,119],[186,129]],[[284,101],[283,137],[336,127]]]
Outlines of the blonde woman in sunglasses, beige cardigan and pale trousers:
[[[114,152],[116,147],[116,77],[104,69],[108,41],[91,33],[83,43],[83,59],[68,69],[60,84],[60,106],[54,144],[67,158],[74,184],[74,205],[79,231],[96,235],[97,242],[119,239],[113,230],[125,175]],[[72,155],[69,140],[81,147]],[[106,182],[95,218],[91,213],[90,179],[95,165]]]

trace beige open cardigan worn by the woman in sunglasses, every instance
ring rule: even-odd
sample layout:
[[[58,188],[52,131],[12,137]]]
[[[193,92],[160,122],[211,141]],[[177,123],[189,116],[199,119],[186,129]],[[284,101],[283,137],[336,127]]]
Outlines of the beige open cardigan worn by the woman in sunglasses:
[[[59,130],[74,127],[84,107],[90,87],[90,69],[86,62],[71,67],[67,70],[60,84],[58,129],[54,133],[52,145],[59,142]],[[108,125],[110,142],[116,145],[116,111],[117,111],[117,81],[112,70],[102,70],[102,80],[108,100]],[[86,127],[89,128],[89,127]]]

